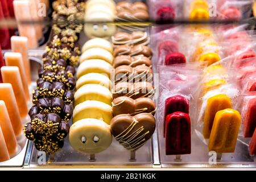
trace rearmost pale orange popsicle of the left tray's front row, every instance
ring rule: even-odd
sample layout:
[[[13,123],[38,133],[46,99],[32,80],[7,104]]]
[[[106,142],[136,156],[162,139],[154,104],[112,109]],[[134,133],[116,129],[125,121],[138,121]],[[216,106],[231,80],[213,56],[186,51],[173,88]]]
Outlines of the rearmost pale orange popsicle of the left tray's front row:
[[[19,52],[22,55],[22,61],[26,72],[27,83],[31,84],[30,61],[28,60],[28,40],[26,36],[11,37],[11,51]]]

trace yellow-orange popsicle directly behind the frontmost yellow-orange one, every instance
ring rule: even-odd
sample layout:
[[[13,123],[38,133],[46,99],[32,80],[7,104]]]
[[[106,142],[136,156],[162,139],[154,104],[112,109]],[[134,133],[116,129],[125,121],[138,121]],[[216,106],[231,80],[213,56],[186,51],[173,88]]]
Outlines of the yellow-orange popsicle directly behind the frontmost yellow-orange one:
[[[204,138],[210,137],[210,131],[212,131],[214,117],[217,111],[232,108],[232,102],[230,98],[224,94],[218,94],[216,96],[208,98],[207,107],[204,114]]]

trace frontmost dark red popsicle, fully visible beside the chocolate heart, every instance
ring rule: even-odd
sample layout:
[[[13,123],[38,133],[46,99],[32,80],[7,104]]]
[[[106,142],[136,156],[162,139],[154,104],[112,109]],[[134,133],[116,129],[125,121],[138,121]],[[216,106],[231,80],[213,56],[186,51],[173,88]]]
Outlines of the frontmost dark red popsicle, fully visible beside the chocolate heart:
[[[191,154],[191,121],[187,113],[166,117],[166,155]]]

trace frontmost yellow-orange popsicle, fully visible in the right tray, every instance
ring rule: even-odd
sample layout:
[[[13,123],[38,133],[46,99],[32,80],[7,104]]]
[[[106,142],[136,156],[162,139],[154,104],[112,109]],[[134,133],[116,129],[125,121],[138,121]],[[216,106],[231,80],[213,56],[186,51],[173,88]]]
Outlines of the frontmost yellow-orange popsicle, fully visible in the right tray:
[[[232,153],[236,148],[241,115],[237,110],[224,109],[216,113],[208,149],[218,153]]]

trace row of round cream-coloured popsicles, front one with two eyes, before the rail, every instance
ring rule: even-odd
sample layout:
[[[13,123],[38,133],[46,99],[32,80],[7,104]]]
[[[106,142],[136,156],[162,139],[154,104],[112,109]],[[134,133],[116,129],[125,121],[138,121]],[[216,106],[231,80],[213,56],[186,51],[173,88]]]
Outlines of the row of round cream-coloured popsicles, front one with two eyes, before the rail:
[[[89,5],[92,1],[88,2]],[[110,121],[113,118],[110,74],[113,46],[102,38],[88,40],[82,46],[77,68],[73,125],[69,132],[71,146],[96,160],[98,154],[112,144]]]

